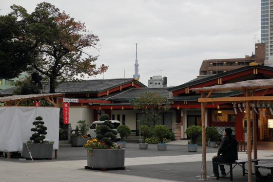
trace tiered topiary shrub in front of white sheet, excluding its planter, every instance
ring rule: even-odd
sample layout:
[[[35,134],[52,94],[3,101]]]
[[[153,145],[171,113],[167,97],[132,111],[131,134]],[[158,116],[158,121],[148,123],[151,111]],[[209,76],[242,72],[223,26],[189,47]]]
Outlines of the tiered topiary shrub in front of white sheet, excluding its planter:
[[[35,120],[36,121],[34,121],[32,124],[36,127],[30,129],[31,131],[34,131],[35,133],[33,133],[29,139],[33,140],[34,144],[43,143],[43,139],[45,139],[44,135],[47,134],[46,132],[47,127],[43,126],[44,122],[41,121],[42,120],[41,116],[36,117]]]

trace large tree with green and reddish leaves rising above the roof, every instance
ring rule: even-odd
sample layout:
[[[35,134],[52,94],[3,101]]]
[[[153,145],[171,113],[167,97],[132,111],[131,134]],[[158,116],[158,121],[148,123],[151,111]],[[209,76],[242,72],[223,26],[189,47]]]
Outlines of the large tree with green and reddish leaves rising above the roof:
[[[12,27],[14,33],[0,37],[0,43],[2,43],[0,46],[9,44],[16,46],[22,41],[18,49],[26,52],[27,55],[17,56],[25,61],[25,66],[20,67],[19,70],[28,68],[39,72],[44,81],[49,82],[50,93],[55,93],[59,83],[79,81],[76,76],[81,78],[85,75],[94,76],[108,69],[108,66],[104,64],[96,68],[97,65],[93,62],[98,59],[98,56],[87,53],[88,48],[98,46],[99,39],[98,36],[86,30],[84,23],[76,22],[64,11],[60,13],[58,8],[47,2],[39,3],[31,14],[28,14],[21,6],[13,5],[11,9],[13,11],[9,15],[0,18],[0,23],[4,22],[5,25],[4,30],[0,27],[0,34],[3,31],[8,32],[8,27]],[[4,52],[3,54],[8,56],[15,53]],[[0,59],[0,63],[5,61],[8,62],[4,58]],[[15,58],[14,61],[16,61]]]

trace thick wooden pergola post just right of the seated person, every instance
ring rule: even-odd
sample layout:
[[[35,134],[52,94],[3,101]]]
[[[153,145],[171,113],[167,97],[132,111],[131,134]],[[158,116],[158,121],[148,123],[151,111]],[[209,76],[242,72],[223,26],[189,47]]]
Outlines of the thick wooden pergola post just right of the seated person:
[[[249,96],[247,91],[246,96]],[[247,104],[247,154],[248,154],[248,182],[252,182],[252,144],[251,144],[251,123],[250,123],[250,101]]]

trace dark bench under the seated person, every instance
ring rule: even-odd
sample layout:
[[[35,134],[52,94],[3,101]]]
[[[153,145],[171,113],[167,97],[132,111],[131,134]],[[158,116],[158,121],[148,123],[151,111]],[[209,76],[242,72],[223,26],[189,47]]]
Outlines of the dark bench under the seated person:
[[[258,164],[258,159],[253,159],[252,162],[257,165]],[[248,170],[246,170],[245,168],[245,164],[248,162],[247,159],[239,159],[233,163],[220,163],[220,162],[215,162],[215,164],[217,164],[217,169],[216,169],[216,179],[219,180],[219,178],[225,178],[225,179],[230,179],[230,181],[233,181],[233,168],[238,164],[243,168],[243,176],[245,176],[246,174],[248,174]],[[235,164],[234,166],[232,166],[233,164]],[[230,171],[226,174],[226,176],[230,173],[230,177],[220,177],[219,176],[219,165],[229,165],[230,166]],[[246,172],[247,171],[247,172]],[[255,174],[255,173],[252,173]]]

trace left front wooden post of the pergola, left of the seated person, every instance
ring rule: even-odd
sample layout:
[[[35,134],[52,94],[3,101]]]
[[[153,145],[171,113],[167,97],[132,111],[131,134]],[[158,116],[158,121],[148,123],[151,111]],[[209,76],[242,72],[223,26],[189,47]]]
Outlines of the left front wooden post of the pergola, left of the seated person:
[[[205,93],[201,92],[201,98],[204,98]],[[203,180],[207,180],[207,160],[206,160],[206,121],[205,121],[205,107],[206,104],[201,102],[201,113],[202,113],[202,162],[203,162]]]

